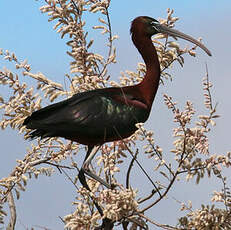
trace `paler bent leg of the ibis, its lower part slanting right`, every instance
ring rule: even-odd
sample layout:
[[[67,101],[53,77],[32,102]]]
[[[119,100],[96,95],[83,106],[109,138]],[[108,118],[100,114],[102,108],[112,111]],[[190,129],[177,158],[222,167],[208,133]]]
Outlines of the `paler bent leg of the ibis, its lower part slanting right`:
[[[89,177],[95,179],[96,181],[98,181],[100,184],[103,184],[105,187],[107,188],[111,188],[111,186],[106,182],[104,181],[102,178],[100,178],[99,176],[95,175],[92,171],[90,171],[89,169],[89,165],[92,161],[92,159],[94,158],[95,154],[97,153],[97,151],[99,150],[101,145],[98,145],[98,146],[94,146],[94,147],[90,147],[88,146],[88,151],[87,151],[87,156],[84,160],[84,163],[82,165],[82,168],[81,170],[87,174]]]

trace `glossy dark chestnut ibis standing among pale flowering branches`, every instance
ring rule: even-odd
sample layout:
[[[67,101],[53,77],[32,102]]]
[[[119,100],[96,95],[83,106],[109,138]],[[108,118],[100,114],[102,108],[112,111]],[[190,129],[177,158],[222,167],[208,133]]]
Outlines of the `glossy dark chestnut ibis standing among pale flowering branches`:
[[[79,171],[80,182],[86,184],[85,174],[111,188],[106,181],[89,169],[99,147],[130,137],[137,123],[147,121],[160,82],[160,64],[151,37],[162,33],[192,42],[209,56],[211,52],[199,41],[148,17],[136,17],[130,28],[133,44],[146,65],[146,73],[138,84],[81,92],[61,102],[33,112],[23,125],[30,129],[29,138],[63,137],[88,147]]]

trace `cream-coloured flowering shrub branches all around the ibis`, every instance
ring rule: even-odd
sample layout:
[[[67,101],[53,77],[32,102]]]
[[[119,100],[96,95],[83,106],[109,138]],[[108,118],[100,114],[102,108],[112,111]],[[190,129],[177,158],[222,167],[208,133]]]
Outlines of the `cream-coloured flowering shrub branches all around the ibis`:
[[[105,86],[133,85],[142,80],[146,71],[145,65],[138,63],[137,70],[126,70],[121,74],[119,82],[110,80],[108,66],[116,62],[114,41],[118,38],[112,33],[108,11],[110,0],[45,0],[44,2],[41,12],[47,13],[49,21],[56,23],[54,30],[60,34],[61,38],[67,39],[67,54],[72,58],[70,73],[65,76],[69,82],[68,90],[65,91],[60,83],[50,80],[43,73],[33,73],[26,60],[20,61],[14,53],[0,50],[3,61],[11,62],[15,67],[15,71],[0,69],[0,84],[8,87],[11,92],[9,98],[0,96],[2,113],[0,127],[4,130],[10,126],[17,129],[19,133],[25,134],[25,137],[29,130],[22,127],[24,119],[41,108],[45,100],[54,101],[56,98],[70,97],[77,92]],[[86,20],[86,15],[89,14],[98,18],[97,25],[94,25],[92,30],[100,31],[105,38],[106,55],[94,52],[95,43],[88,33],[91,29]],[[178,18],[173,16],[173,10],[168,9],[167,18],[160,19],[160,22],[174,27],[177,20]],[[183,55],[196,55],[196,47],[181,48],[165,35],[157,35],[153,42],[161,65],[162,83],[164,80],[173,79],[173,76],[167,72],[172,65],[180,63],[183,66]],[[30,87],[26,80],[23,81],[23,77],[34,79],[35,86]],[[98,182],[88,179],[91,192],[82,187],[78,188],[76,183],[78,183],[79,164],[73,158],[73,155],[80,151],[78,144],[60,138],[38,140],[37,143],[32,144],[24,158],[17,160],[10,175],[0,179],[0,224],[6,225],[5,206],[8,202],[10,207],[13,207],[9,210],[11,216],[9,225],[14,228],[16,209],[13,199],[14,196],[17,199],[20,198],[20,192],[26,190],[29,179],[37,178],[40,174],[52,176],[54,169],[58,169],[65,172],[65,175],[67,170],[76,170],[74,179],[67,176],[77,188],[77,197],[73,198],[75,211],[64,217],[66,229],[95,229],[105,217],[111,219],[114,224],[122,225],[124,229],[129,223],[132,225],[131,229],[146,228],[146,221],[155,224],[144,215],[145,211],[166,197],[180,175],[185,175],[187,180],[196,177],[197,183],[205,175],[208,177],[215,175],[224,186],[221,192],[214,192],[212,202],[222,203],[225,208],[202,205],[201,209],[193,211],[191,205],[189,207],[184,205],[182,210],[187,210],[188,214],[180,219],[179,229],[229,229],[231,196],[226,179],[222,176],[222,168],[230,167],[231,153],[218,155],[210,152],[208,134],[219,115],[216,113],[216,106],[212,103],[210,91],[212,84],[209,82],[208,74],[202,84],[206,115],[196,117],[198,111],[190,101],[186,102],[183,110],[180,110],[170,96],[164,95],[164,102],[173,113],[173,121],[176,125],[173,130],[174,142],[171,150],[175,157],[174,161],[169,160],[167,158],[169,153],[156,143],[154,132],[147,130],[141,123],[137,124],[138,131],[130,138],[107,143],[101,147],[101,155],[97,158],[97,166],[93,167],[93,170],[112,184],[120,184],[120,181],[116,179],[116,174],[120,172],[118,165],[125,161],[128,154],[131,154],[124,187],[118,185],[116,189],[108,190]],[[137,142],[142,144],[143,149],[138,148]],[[139,163],[138,157],[142,152],[153,161],[153,174],[157,175],[158,181],[153,182]],[[65,159],[71,160],[70,165],[61,165]],[[130,185],[130,175],[135,161],[152,186],[151,194],[148,192],[145,195],[142,194],[141,199],[137,199],[139,194],[137,188],[132,188]],[[43,167],[44,165],[48,167]],[[133,186],[136,185],[133,184]],[[102,207],[103,216],[95,208],[94,202]],[[158,226],[166,228],[165,225]]]

